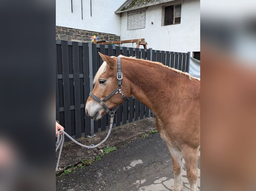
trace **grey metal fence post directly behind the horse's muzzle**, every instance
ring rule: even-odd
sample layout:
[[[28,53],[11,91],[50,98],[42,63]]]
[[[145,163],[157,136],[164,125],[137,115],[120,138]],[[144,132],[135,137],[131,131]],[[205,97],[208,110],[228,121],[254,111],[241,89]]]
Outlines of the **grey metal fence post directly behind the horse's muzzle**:
[[[90,79],[90,92],[93,91],[93,53],[92,53],[92,42],[88,42],[89,46],[89,79]],[[96,136],[94,134],[94,120],[91,119],[91,132],[88,137]]]

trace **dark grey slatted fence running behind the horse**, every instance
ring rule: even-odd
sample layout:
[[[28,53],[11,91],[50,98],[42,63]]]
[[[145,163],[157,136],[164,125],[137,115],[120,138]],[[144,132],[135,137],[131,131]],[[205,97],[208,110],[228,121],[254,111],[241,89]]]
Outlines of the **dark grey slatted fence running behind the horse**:
[[[102,64],[98,52],[108,56],[136,56],[183,72],[189,69],[189,53],[56,40],[56,120],[73,138],[93,136],[95,132],[109,129],[108,115],[98,121],[85,116],[85,103],[93,89],[92,79]],[[113,127],[150,116],[145,105],[129,97],[117,110]],[[66,137],[66,141],[69,140]]]

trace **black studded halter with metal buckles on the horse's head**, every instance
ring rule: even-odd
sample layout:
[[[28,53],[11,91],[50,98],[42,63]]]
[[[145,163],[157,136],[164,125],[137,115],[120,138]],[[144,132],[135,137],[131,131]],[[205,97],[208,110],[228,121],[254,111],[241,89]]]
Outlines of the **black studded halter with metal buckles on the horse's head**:
[[[117,80],[118,80],[117,87],[110,95],[108,95],[104,99],[100,99],[97,96],[93,95],[92,92],[90,92],[90,94],[89,94],[95,101],[97,101],[106,110],[106,113],[110,114],[111,116],[114,116],[114,114],[117,110],[117,107],[115,107],[113,110],[109,110],[108,107],[105,105],[105,101],[107,101],[110,97],[117,94],[118,92],[121,94],[121,97],[125,101],[128,100],[128,98],[122,93],[123,74],[121,72],[121,57],[120,56],[117,57],[117,74],[116,74],[116,76],[117,76]],[[120,89],[118,89],[118,88],[120,88]]]

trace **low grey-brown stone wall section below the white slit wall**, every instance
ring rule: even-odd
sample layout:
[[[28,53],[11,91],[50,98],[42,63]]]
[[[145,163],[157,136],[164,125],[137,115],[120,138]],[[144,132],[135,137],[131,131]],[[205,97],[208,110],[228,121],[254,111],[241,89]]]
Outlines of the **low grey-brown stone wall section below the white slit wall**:
[[[56,26],[56,39],[58,40],[87,42],[91,41],[90,38],[93,35],[98,37],[98,41],[120,41],[120,36],[114,34]]]

